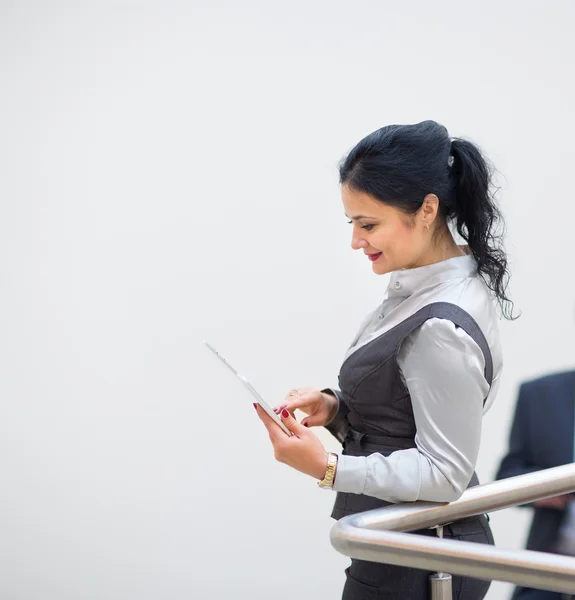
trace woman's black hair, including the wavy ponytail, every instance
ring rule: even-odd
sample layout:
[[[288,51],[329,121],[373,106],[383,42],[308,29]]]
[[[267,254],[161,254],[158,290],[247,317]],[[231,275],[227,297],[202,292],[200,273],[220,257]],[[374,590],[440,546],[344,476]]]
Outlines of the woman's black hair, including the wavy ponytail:
[[[492,168],[474,144],[451,139],[447,129],[435,121],[388,125],[351,150],[339,175],[342,184],[406,214],[417,212],[425,196],[435,194],[440,214],[455,222],[503,315],[513,318],[513,303],[506,295],[507,258],[501,243],[504,224],[493,199]]]

